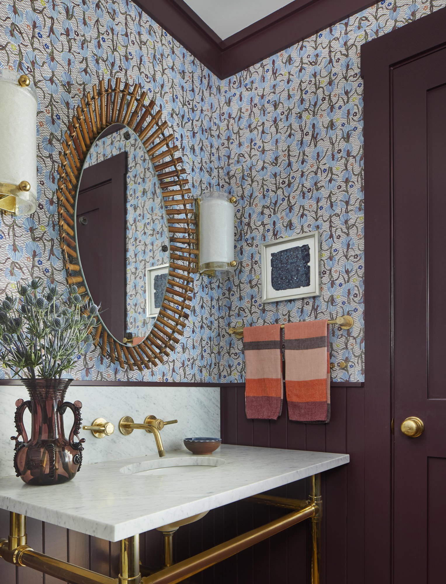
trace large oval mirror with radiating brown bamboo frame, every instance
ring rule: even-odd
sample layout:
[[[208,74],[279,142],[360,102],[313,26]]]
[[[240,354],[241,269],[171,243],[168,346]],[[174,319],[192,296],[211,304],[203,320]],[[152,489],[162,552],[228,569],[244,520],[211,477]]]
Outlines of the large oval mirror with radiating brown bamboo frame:
[[[155,110],[154,100],[144,103],[147,92],[140,93],[138,84],[130,88],[130,85],[126,83],[121,89],[119,77],[114,80],[114,86],[109,79],[107,88],[104,81],[100,81],[99,86],[93,86],[92,92],[93,95],[90,95],[90,92],[86,93],[80,105],[76,107],[76,115],[72,117],[72,124],[68,125],[64,134],[63,151],[59,154],[61,165],[58,167],[57,198],[60,245],[67,272],[67,283],[75,286],[77,292],[83,297],[91,297],[96,304],[102,304],[100,298],[102,293],[95,291],[99,288],[93,284],[92,276],[87,275],[94,272],[95,262],[97,265],[99,261],[95,259],[93,252],[89,253],[92,245],[94,245],[93,251],[97,251],[96,244],[91,244],[93,239],[88,239],[82,229],[88,225],[89,220],[92,221],[92,231],[94,231],[94,225],[112,223],[107,232],[101,232],[100,238],[94,240],[100,241],[102,246],[105,245],[100,249],[100,253],[98,252],[97,258],[106,258],[107,265],[113,266],[110,269],[114,269],[115,264],[122,263],[123,279],[128,280],[128,273],[135,262],[133,259],[128,259],[127,253],[126,272],[126,266],[123,263],[126,260],[116,259],[112,251],[111,239],[116,238],[118,233],[122,239],[121,231],[126,230],[128,252],[132,246],[132,237],[140,238],[141,233],[147,234],[150,228],[154,227],[147,223],[147,218],[150,223],[156,211],[156,201],[154,200],[149,206],[150,213],[144,210],[142,213],[134,213],[130,218],[130,221],[133,221],[134,235],[129,236],[131,230],[128,206],[127,210],[124,210],[127,225],[123,223],[122,228],[118,227],[113,232],[113,226],[119,224],[111,218],[112,215],[108,209],[107,217],[109,218],[106,219],[106,223],[103,217],[100,217],[102,223],[95,223],[97,206],[92,204],[93,195],[89,195],[92,191],[89,190],[89,182],[85,178],[88,167],[91,170],[91,165],[95,161],[93,154],[97,151],[97,145],[113,131],[119,137],[120,133],[123,133],[129,144],[134,142],[135,152],[141,155],[142,151],[144,157],[141,156],[141,159],[149,161],[156,178],[156,188],[159,190],[162,201],[159,208],[162,208],[165,221],[163,223],[161,219],[157,220],[156,229],[158,233],[166,232],[166,241],[158,242],[161,251],[157,250],[156,258],[154,253],[152,254],[151,263],[138,262],[138,265],[143,266],[143,275],[134,277],[136,283],[133,284],[133,291],[128,283],[126,288],[126,284],[119,282],[119,289],[124,292],[116,293],[113,290],[115,297],[116,295],[119,297],[119,301],[116,303],[116,298],[113,302],[107,301],[111,310],[108,311],[107,316],[105,316],[107,313],[105,310],[97,317],[97,325],[92,331],[92,336],[94,345],[99,345],[102,355],[108,357],[111,363],[117,361],[122,369],[128,366],[131,371],[134,371],[135,367],[142,371],[143,368],[149,369],[152,365],[162,363],[163,357],[175,349],[189,317],[187,311],[190,310],[190,294],[193,274],[197,271],[198,253],[193,199],[190,198],[191,190],[187,187],[189,180],[182,178],[186,174],[182,168],[182,158],[176,157],[179,147],[172,145],[174,135],[168,133],[168,123],[161,120],[162,112]],[[107,131],[104,131],[106,128]],[[138,154],[134,154],[133,151],[127,152],[127,147],[125,150],[128,157],[137,158]],[[113,168],[113,172],[117,173],[119,155],[106,162],[109,168]],[[142,165],[145,166],[145,163]],[[99,176],[96,171],[92,174]],[[118,176],[122,178],[122,174],[121,172]],[[100,179],[98,180],[100,182]],[[137,180],[136,177],[135,180]],[[142,182],[146,185],[147,178],[142,178]],[[155,184],[152,183],[152,189],[154,188]],[[111,187],[104,192],[108,196]],[[102,206],[102,208],[106,207]],[[103,214],[103,211],[101,213]],[[97,227],[97,229],[101,228]],[[89,257],[90,255],[93,259]],[[88,262],[90,262],[89,272]],[[149,268],[147,268],[148,265]],[[139,307],[134,300],[138,296],[137,288],[144,288],[144,310],[138,310]],[[120,298],[123,294],[125,297]],[[141,304],[141,298],[138,298],[138,302]],[[130,310],[132,304],[135,308],[133,311]],[[119,309],[113,309],[113,307],[120,305],[126,306],[127,314],[126,317],[118,315],[120,321],[116,324],[116,319],[112,317],[114,317],[114,311],[119,311]],[[102,310],[104,308],[107,309],[109,306],[102,305]],[[142,314],[143,311],[144,314]],[[131,328],[137,333],[129,334],[128,329]],[[123,330],[126,330],[124,336],[121,335]]]

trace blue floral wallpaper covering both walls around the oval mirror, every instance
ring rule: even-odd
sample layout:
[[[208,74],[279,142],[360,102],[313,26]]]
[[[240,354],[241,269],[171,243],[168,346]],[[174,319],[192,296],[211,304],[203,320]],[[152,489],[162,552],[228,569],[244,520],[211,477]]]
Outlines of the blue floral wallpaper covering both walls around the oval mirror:
[[[60,139],[79,98],[99,79],[140,83],[162,107],[183,151],[194,196],[234,193],[236,267],[228,281],[200,277],[190,323],[172,359],[130,373],[99,350],[81,379],[242,381],[243,344],[229,325],[351,314],[332,328],[333,380],[364,378],[363,83],[360,47],[446,0],[379,2],[234,77],[220,81],[130,0],[0,2],[0,67],[29,74],[40,99],[40,192],[33,217],[2,217],[0,294],[22,277],[64,280],[55,202]],[[322,294],[260,301],[260,244],[318,229]],[[367,237],[372,239],[372,234]],[[8,371],[0,373],[8,376]]]

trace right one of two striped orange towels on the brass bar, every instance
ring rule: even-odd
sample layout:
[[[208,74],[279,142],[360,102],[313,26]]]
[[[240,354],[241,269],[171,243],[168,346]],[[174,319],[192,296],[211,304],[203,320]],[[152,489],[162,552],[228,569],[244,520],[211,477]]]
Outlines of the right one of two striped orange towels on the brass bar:
[[[326,319],[285,325],[288,417],[330,421],[330,347]]]

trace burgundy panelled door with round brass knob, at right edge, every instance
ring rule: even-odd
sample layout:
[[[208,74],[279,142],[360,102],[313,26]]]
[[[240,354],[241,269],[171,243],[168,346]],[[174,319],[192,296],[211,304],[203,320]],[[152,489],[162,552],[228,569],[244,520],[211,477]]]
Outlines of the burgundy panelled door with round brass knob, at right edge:
[[[394,581],[437,584],[446,549],[446,48],[395,67],[392,98]],[[423,420],[421,436],[400,430],[408,416]]]

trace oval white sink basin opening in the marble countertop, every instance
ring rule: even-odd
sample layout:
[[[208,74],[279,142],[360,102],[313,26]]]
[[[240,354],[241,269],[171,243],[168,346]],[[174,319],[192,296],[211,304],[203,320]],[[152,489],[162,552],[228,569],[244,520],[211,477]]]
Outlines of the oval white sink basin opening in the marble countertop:
[[[157,477],[208,471],[225,463],[223,458],[211,456],[161,458],[160,460],[145,460],[141,463],[128,464],[126,467],[120,468],[120,472],[135,477]]]

